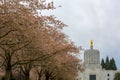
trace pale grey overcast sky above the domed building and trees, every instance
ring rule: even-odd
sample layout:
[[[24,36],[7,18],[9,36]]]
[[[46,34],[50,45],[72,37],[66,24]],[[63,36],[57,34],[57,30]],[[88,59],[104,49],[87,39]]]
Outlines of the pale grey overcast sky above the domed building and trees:
[[[120,68],[120,0],[53,0],[62,7],[51,11],[69,27],[64,32],[78,46],[100,51],[101,58],[109,56]]]

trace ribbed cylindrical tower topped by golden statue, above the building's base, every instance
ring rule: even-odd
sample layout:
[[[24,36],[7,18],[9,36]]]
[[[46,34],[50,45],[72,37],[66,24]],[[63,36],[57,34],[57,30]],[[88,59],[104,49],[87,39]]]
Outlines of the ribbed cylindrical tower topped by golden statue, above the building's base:
[[[93,41],[90,41],[90,49],[84,52],[84,66],[86,68],[100,68],[100,53],[93,48]]]

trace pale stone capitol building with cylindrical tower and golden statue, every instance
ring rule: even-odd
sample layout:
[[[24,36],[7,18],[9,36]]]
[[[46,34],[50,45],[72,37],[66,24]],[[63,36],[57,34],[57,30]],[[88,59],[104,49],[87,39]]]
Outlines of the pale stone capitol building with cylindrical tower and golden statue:
[[[100,64],[100,52],[93,48],[90,41],[90,49],[84,51],[84,71],[78,70],[76,80],[114,80],[114,75],[119,70],[105,70]]]

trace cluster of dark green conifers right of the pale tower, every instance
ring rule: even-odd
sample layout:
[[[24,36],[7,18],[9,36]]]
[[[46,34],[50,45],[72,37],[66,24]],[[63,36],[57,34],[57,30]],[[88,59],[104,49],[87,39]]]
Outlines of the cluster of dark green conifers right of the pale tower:
[[[104,62],[104,59],[102,59],[101,66],[105,70],[117,70],[114,58],[109,59],[108,56],[106,57],[106,62]]]

